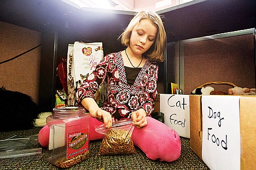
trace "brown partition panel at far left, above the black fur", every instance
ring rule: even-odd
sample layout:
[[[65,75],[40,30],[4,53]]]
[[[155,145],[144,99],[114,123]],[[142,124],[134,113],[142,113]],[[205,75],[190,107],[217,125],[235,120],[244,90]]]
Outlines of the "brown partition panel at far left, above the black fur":
[[[3,62],[40,44],[40,33],[0,21]],[[38,104],[41,47],[0,65],[0,87],[27,94]]]

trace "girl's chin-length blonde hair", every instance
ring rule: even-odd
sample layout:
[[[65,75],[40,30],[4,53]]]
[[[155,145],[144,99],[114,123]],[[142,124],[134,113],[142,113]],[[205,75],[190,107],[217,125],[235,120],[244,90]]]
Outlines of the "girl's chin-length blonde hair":
[[[135,26],[143,19],[149,19],[158,27],[158,33],[156,34],[156,39],[149,50],[145,53],[145,57],[153,61],[164,61],[164,51],[166,43],[166,32],[164,25],[161,20],[161,16],[152,11],[141,11],[135,14],[133,19],[131,19],[129,25],[125,28],[124,32],[120,35],[121,43],[124,46],[130,45],[131,32]],[[119,38],[120,38],[119,37]]]

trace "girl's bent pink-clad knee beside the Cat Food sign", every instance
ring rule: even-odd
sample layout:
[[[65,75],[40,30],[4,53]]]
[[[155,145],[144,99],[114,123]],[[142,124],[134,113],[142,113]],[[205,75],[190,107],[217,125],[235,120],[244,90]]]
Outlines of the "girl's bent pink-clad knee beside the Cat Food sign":
[[[148,125],[135,127],[132,140],[149,159],[172,162],[181,155],[181,139],[178,133],[164,123],[147,117]]]

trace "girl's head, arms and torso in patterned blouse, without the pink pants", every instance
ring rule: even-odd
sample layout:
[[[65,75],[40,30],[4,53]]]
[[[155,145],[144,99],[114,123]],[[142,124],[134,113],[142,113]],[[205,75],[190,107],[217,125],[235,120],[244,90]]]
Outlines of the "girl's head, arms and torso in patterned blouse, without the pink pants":
[[[78,89],[78,104],[92,117],[104,122],[133,118],[133,125],[147,125],[154,110],[158,65],[164,60],[166,33],[161,18],[151,12],[137,13],[121,34],[124,51],[108,54],[96,70]],[[104,106],[99,108],[94,95],[103,83],[108,93]]]

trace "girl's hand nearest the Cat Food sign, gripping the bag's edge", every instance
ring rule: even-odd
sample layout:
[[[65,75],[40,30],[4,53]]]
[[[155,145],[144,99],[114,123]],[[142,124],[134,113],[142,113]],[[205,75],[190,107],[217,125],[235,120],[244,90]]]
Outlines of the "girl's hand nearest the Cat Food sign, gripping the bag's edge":
[[[133,119],[133,125],[135,127],[143,127],[146,126],[147,123],[147,113],[143,108],[132,112],[131,118]]]

